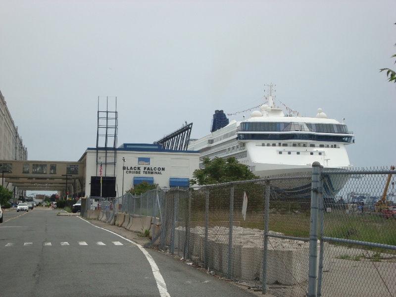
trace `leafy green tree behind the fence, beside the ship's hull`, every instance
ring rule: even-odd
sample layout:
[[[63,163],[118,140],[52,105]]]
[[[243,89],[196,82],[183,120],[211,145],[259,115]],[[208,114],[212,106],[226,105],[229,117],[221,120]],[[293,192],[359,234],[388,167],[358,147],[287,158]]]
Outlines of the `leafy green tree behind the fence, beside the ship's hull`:
[[[258,179],[247,165],[241,164],[234,157],[227,159],[215,157],[203,159],[203,168],[196,169],[193,173],[191,185],[213,185],[234,181],[246,181]]]

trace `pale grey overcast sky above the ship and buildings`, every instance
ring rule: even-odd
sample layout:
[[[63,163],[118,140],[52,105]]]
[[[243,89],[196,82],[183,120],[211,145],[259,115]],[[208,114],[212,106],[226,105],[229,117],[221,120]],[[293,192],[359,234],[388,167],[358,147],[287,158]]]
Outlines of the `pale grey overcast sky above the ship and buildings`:
[[[355,167],[396,163],[396,1],[0,0],[0,91],[30,160],[76,161],[117,97],[118,146],[263,103],[345,118]],[[396,69],[395,69],[396,70]],[[241,113],[230,116],[241,120]],[[248,114],[248,113],[246,113]]]

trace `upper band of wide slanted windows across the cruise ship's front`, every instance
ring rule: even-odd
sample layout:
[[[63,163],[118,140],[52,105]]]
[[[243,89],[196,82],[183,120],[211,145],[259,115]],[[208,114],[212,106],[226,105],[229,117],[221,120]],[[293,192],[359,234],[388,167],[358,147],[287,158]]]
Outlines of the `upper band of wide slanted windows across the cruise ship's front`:
[[[244,122],[241,123],[238,131],[240,132],[316,132],[316,133],[336,133],[348,134],[345,124],[316,124],[303,122]],[[234,133],[231,132],[231,133]],[[231,135],[230,135],[231,136]],[[230,137],[228,136],[228,137]],[[224,139],[224,138],[223,138]],[[216,142],[216,139],[215,139]]]

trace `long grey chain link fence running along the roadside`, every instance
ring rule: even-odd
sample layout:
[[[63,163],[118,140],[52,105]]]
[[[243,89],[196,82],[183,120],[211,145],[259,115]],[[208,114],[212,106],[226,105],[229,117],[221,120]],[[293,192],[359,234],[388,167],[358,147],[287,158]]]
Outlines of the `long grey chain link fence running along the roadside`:
[[[128,215],[123,227],[149,233],[150,246],[264,294],[396,296],[395,173],[316,164],[312,172],[128,194],[99,207],[109,223]]]

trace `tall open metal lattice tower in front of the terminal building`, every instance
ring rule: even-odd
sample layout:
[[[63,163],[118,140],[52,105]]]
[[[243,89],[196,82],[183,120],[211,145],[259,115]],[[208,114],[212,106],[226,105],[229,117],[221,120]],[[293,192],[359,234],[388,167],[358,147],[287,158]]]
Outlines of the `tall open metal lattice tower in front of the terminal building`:
[[[98,97],[98,135],[96,141],[96,166],[102,165],[102,175],[115,176],[117,160],[118,113],[117,97]]]

